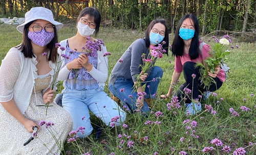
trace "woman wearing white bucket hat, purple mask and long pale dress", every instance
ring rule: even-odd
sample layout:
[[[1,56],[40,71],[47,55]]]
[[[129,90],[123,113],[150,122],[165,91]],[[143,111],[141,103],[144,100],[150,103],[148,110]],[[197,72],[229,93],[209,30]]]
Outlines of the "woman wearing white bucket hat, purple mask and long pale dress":
[[[56,87],[50,89],[54,67],[59,61],[55,43],[62,23],[54,21],[52,12],[42,7],[28,11],[25,20],[17,27],[23,33],[22,43],[8,51],[0,66],[0,152],[59,154],[54,138],[42,124],[44,121],[48,127],[55,124],[52,127],[60,144],[72,128],[69,113],[53,102]],[[46,102],[52,106],[47,116],[46,108],[38,107]],[[34,126],[38,127],[38,139],[24,146],[35,132]]]

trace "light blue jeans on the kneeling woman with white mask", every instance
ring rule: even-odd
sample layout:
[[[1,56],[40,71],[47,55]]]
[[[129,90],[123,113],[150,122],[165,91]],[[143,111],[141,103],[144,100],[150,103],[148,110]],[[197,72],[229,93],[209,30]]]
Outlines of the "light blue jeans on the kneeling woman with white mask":
[[[72,130],[77,130],[79,126],[86,128],[84,134],[80,132],[77,134],[79,138],[86,137],[93,131],[89,110],[108,126],[110,126],[111,118],[115,116],[121,116],[121,119],[119,118],[115,122],[116,126],[119,126],[126,118],[126,113],[100,88],[93,90],[64,89],[62,94],[62,106],[72,116]]]

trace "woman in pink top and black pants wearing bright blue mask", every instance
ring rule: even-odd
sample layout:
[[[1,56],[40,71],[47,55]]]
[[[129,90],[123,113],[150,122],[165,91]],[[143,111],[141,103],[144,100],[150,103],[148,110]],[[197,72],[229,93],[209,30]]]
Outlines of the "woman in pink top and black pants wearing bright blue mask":
[[[225,81],[224,71],[220,69],[220,67],[217,67],[214,72],[208,72],[209,76],[215,81],[215,83],[210,85],[209,90],[204,88],[204,84],[200,82],[199,68],[195,68],[195,65],[197,62],[202,62],[202,60],[209,57],[208,52],[210,47],[207,44],[203,45],[202,54],[200,53],[199,46],[202,41],[199,40],[199,32],[199,23],[196,16],[187,14],[180,19],[172,43],[172,52],[175,56],[172,82],[168,93],[161,95],[161,98],[168,98],[171,96],[174,89],[173,86],[179,80],[183,70],[185,83],[180,86],[174,95],[178,96],[179,101],[181,101],[185,96],[184,94],[188,93],[189,96],[185,99],[186,113],[188,114],[196,114],[201,111],[199,98],[201,97],[202,92],[216,91]],[[189,93],[188,89],[193,92]],[[191,96],[191,94],[193,94],[193,96]]]

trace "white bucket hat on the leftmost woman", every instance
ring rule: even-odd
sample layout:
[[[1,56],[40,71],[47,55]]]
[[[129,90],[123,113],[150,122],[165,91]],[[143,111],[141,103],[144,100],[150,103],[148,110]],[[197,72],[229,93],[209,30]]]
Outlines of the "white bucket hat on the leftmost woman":
[[[33,20],[42,19],[47,20],[55,25],[56,29],[59,30],[62,28],[63,24],[60,22],[57,22],[53,19],[52,11],[49,9],[46,9],[44,7],[34,7],[30,9],[30,11],[26,12],[25,14],[25,22],[21,25],[17,26],[17,30],[20,33],[23,33],[24,27],[27,23]]]

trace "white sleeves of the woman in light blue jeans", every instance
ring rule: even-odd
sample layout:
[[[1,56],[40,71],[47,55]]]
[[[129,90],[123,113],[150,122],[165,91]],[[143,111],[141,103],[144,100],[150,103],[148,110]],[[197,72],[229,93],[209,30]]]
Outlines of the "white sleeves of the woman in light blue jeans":
[[[60,45],[66,48],[67,40],[62,40],[60,42]],[[93,69],[89,72],[92,77],[97,81],[100,88],[103,88],[105,86],[106,79],[108,79],[108,57],[103,57],[103,54],[106,53],[106,47],[101,46],[102,51],[98,50],[98,59],[97,59],[97,69],[93,66]],[[65,51],[61,51],[60,48],[58,48],[58,54],[65,54]],[[61,57],[63,60],[63,58]],[[62,68],[59,71],[58,75],[58,81],[64,81],[63,86],[65,87],[65,82],[69,76],[71,70],[68,70],[67,65],[65,64],[65,61],[62,61]]]

